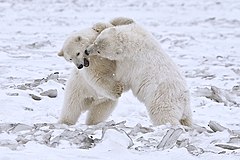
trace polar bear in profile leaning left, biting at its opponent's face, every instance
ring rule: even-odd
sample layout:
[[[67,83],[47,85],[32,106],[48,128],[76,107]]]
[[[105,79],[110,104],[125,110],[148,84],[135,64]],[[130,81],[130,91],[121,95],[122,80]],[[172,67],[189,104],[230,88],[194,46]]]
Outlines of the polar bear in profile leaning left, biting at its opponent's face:
[[[136,23],[103,30],[85,51],[115,60],[116,80],[145,104],[154,125],[192,125],[189,91],[157,40]]]

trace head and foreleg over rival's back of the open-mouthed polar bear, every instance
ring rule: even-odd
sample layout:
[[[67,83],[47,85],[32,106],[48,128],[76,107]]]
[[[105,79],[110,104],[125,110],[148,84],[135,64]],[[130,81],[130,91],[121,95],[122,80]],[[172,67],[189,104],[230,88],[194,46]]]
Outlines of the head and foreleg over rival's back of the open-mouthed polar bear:
[[[58,56],[63,56],[67,61],[73,62],[78,69],[88,67],[89,57],[87,56],[87,52],[84,51],[90,44],[93,44],[97,36],[107,28],[129,25],[132,23],[134,23],[132,19],[125,17],[114,18],[110,23],[96,23],[92,28],[82,30],[81,32],[74,33],[70,36],[64,42],[63,48],[58,53]]]

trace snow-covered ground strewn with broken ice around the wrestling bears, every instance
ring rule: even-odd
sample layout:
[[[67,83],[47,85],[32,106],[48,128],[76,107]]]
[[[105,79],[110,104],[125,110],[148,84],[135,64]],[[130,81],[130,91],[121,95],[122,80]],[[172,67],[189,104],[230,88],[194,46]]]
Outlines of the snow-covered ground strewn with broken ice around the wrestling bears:
[[[131,92],[107,123],[55,124],[73,67],[56,55],[63,41],[116,16],[145,26],[181,67],[199,129],[151,126]],[[240,159],[240,1],[0,0],[0,22],[1,160]]]

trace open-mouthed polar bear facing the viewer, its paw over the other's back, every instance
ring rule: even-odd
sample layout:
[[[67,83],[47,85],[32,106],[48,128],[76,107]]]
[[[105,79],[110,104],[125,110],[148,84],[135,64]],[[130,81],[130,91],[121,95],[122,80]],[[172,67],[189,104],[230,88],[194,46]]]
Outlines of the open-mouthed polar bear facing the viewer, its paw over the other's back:
[[[104,28],[129,23],[131,19],[121,17],[111,23],[97,23],[64,42],[58,56],[73,62],[76,67],[66,84],[59,123],[75,124],[80,114],[88,111],[86,124],[93,125],[106,120],[112,113],[123,92],[123,84],[114,79],[116,62],[99,56],[88,58],[84,51]]]

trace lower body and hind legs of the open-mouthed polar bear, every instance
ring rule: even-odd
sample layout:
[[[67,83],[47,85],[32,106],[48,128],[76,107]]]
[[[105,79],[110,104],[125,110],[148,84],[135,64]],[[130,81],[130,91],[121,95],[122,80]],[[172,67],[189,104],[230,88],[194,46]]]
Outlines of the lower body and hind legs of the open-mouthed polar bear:
[[[82,72],[73,68],[67,81],[59,123],[75,124],[80,114],[88,110],[86,124],[97,124],[106,120],[117,104],[117,100],[99,98],[96,90],[83,78]]]

